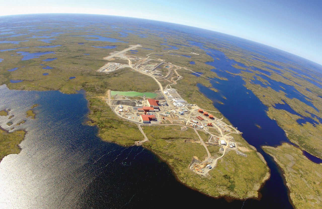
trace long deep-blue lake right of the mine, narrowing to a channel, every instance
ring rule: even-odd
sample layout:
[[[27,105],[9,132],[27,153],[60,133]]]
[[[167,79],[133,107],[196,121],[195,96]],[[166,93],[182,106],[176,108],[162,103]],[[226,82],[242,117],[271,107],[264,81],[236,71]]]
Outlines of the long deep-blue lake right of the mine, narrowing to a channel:
[[[261,145],[276,146],[281,144],[281,142],[289,142],[288,138],[276,121],[271,120],[267,116],[265,112],[267,107],[260,102],[252,91],[244,86],[245,82],[242,80],[242,77],[226,72],[240,71],[233,69],[232,61],[228,60],[223,53],[217,52],[217,50],[209,49],[206,51],[214,60],[217,57],[222,60],[222,62],[214,61],[206,64],[215,67],[216,70],[212,71],[217,73],[219,77],[227,78],[228,81],[217,78],[210,79],[210,83],[218,92],[215,93],[211,89],[198,84],[200,92],[214,102],[213,105],[235,127],[238,127],[238,130],[243,132],[242,135],[247,142],[255,146],[267,161],[271,169],[271,177],[263,187],[261,201],[272,206],[273,203],[268,202],[274,199],[274,202],[278,204],[272,207],[292,208],[289,203],[287,188],[284,185],[283,178],[280,176],[280,169],[274,160],[261,149]],[[225,71],[219,69],[224,69]],[[223,105],[219,102],[223,103]],[[255,124],[260,125],[261,128],[259,129]],[[272,132],[271,130],[274,131]]]

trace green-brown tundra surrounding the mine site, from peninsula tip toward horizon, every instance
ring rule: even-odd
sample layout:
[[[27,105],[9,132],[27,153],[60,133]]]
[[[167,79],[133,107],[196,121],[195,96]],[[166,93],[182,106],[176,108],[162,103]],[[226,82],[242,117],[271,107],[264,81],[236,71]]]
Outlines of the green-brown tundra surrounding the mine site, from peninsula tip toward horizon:
[[[101,28],[94,25],[91,28],[91,30],[96,29],[101,30]],[[1,53],[1,58],[4,61],[0,65],[0,84],[7,84],[10,89],[60,90],[63,93],[75,93],[76,90],[84,89],[86,90],[86,98],[89,100],[89,108],[91,110],[89,114],[91,121],[89,124],[99,126],[99,136],[102,140],[121,145],[133,145],[135,141],[142,140],[143,135],[138,130],[137,125],[119,118],[112,112],[104,100],[106,98],[105,93],[108,89],[116,91],[155,92],[158,90],[158,86],[152,78],[133,72],[129,68],[109,74],[98,73],[96,70],[106,63],[102,57],[107,56],[113,51],[123,50],[132,43],[141,43],[144,46],[137,49],[138,52],[136,55],[138,56],[146,56],[151,52],[159,53],[166,51],[163,48],[167,46],[160,45],[163,43],[164,38],[156,36],[153,32],[144,31],[144,33],[148,35],[148,38],[142,39],[137,35],[128,35],[125,39],[131,40],[131,43],[90,41],[85,40],[81,36],[71,36],[87,35],[85,32],[71,32],[55,37],[57,39],[53,40],[52,44],[44,44],[35,39],[30,39],[28,42],[21,42],[19,45],[2,44],[1,46],[3,48],[59,44],[62,46],[52,49],[52,51],[55,51],[55,54],[43,55],[39,58],[26,61],[21,61],[21,56],[12,56],[17,55],[15,51]],[[167,44],[175,45],[187,44],[186,40],[188,38],[190,39],[191,34],[183,37],[181,33],[172,31],[171,34],[165,32],[163,35],[168,36]],[[116,32],[109,34],[109,37],[119,38]],[[84,45],[78,45],[78,43],[84,43]],[[117,45],[117,48],[102,49],[94,48],[92,45]],[[154,50],[149,51],[143,48],[152,48]],[[34,53],[49,50],[30,47],[26,51]],[[194,52],[199,55],[189,54],[191,58],[164,55],[158,58],[166,59],[166,62],[173,62],[176,65],[187,67],[196,72],[202,72],[203,76],[196,77],[191,75],[191,71],[179,69],[178,73],[183,76],[183,79],[179,80],[178,84],[172,87],[176,88],[181,96],[189,103],[197,104],[207,110],[218,111],[214,108],[213,102],[200,94],[196,87],[198,83],[210,88],[212,87],[208,78],[217,77],[217,75],[210,71],[213,68],[212,66],[205,64],[205,62],[212,61],[212,58],[206,55],[199,47],[195,46],[181,46],[180,49],[174,51],[185,53]],[[42,61],[46,58],[58,59],[51,62]],[[122,62],[118,59],[115,59],[115,61]],[[195,65],[190,65],[190,61],[194,61]],[[48,65],[53,69],[43,69],[43,65]],[[8,71],[8,69],[20,66],[25,67],[13,72]],[[48,73],[49,75],[44,76],[43,73]],[[69,79],[72,76],[76,78]],[[21,83],[10,83],[9,81],[11,79],[24,81]],[[163,85],[169,84],[166,80],[161,80],[160,82]],[[221,114],[214,115],[219,118],[222,117]],[[230,124],[227,119],[223,120],[225,123]],[[21,123],[24,123],[24,121]],[[268,174],[268,167],[261,161],[255,150],[249,148],[250,151],[247,153],[248,157],[242,157],[235,154],[235,152],[228,152],[218,162],[218,166],[210,172],[208,177],[201,177],[188,169],[192,157],[196,156],[202,160],[207,156],[201,144],[193,143],[194,141],[198,142],[199,138],[192,129],[181,131],[179,126],[144,126],[143,129],[150,140],[144,145],[166,160],[172,166],[180,181],[188,186],[212,196],[228,195],[237,198],[258,196],[257,190]],[[200,134],[203,140],[207,139],[206,134]],[[237,139],[238,137],[236,136],[235,138]],[[189,143],[186,143],[185,140],[189,141]],[[249,147],[247,142],[241,137],[238,140],[240,140],[243,146]],[[213,156],[221,155],[218,151],[219,147],[208,147]],[[249,175],[249,171],[252,172],[252,175]]]

